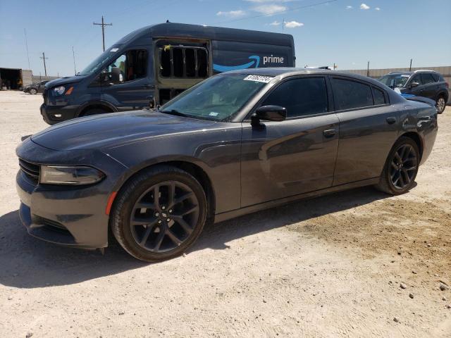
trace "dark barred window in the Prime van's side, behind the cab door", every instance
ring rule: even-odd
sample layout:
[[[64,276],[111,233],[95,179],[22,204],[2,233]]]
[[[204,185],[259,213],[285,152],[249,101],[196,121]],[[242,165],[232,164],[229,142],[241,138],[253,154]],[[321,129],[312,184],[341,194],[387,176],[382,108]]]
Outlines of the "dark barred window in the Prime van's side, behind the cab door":
[[[164,46],[160,49],[162,77],[204,78],[209,73],[208,54],[200,47]]]

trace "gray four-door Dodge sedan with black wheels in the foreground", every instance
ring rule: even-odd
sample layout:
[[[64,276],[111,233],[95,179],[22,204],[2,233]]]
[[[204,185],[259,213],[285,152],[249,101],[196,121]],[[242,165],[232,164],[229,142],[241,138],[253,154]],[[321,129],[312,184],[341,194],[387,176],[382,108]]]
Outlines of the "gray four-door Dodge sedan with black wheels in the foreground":
[[[433,103],[432,103],[433,105]],[[210,77],[156,111],[78,118],[18,146],[20,218],[85,249],[183,253],[209,222],[352,187],[412,188],[435,107],[381,82],[264,68]]]

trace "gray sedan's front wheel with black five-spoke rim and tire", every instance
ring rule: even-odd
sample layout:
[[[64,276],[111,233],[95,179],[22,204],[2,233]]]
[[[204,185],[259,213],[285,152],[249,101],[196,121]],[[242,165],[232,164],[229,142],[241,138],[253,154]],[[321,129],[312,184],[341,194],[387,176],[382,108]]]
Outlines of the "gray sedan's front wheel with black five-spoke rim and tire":
[[[159,192],[157,201],[155,192]],[[206,223],[207,208],[204,189],[192,175],[158,165],[138,173],[121,188],[110,226],[130,255],[141,261],[165,261],[180,256],[196,241]]]

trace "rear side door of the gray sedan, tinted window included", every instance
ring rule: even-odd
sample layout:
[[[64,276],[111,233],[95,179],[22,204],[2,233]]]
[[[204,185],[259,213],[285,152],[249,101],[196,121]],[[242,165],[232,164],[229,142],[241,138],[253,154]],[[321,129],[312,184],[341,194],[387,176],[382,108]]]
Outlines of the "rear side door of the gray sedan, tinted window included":
[[[381,175],[398,137],[399,114],[379,87],[349,77],[330,77],[340,120],[340,142],[333,185]]]

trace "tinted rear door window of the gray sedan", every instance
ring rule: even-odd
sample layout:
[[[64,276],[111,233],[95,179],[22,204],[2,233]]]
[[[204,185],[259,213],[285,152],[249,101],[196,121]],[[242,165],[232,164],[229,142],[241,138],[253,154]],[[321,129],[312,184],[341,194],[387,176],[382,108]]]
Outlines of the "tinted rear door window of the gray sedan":
[[[338,111],[373,106],[373,95],[368,84],[333,78],[332,88]]]

